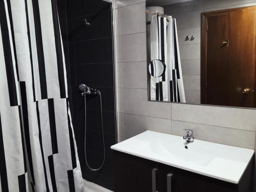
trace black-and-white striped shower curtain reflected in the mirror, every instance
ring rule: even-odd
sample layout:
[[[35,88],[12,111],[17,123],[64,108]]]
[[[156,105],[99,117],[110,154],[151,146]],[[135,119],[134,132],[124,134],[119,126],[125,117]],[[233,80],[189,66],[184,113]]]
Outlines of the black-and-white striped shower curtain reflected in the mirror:
[[[150,76],[150,100],[186,102],[176,19],[153,15],[147,27],[150,60],[159,59],[166,66],[161,77]]]

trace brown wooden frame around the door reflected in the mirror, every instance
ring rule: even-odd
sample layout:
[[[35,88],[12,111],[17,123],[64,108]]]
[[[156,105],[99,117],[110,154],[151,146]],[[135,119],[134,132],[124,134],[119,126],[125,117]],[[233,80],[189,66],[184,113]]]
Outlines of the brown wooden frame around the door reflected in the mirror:
[[[201,13],[201,75],[200,75],[200,84],[201,84],[201,104],[207,104],[206,103],[206,69],[207,69],[207,18],[210,16],[216,16],[223,13],[228,13],[232,11],[247,9],[250,7],[255,6],[247,6],[247,7],[238,7],[233,9],[224,9],[224,10],[217,10],[217,11],[210,11],[210,12],[203,12]],[[256,46],[255,46],[256,47]],[[256,64],[255,64],[256,68]],[[254,90],[256,90],[256,77],[254,80]],[[256,94],[254,93],[254,101],[256,101]],[[253,102],[253,107],[256,108],[256,103]]]

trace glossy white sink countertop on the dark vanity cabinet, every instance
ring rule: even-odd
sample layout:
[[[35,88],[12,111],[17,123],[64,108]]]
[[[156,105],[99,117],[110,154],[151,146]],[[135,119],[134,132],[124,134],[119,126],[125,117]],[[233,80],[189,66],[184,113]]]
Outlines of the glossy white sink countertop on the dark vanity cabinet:
[[[146,131],[111,146],[112,150],[238,184],[254,151],[195,139],[184,147],[182,137]]]

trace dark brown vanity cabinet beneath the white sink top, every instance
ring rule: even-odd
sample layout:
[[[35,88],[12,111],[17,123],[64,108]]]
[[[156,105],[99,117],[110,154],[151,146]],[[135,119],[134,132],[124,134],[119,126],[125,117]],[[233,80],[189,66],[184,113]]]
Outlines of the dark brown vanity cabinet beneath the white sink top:
[[[115,192],[251,192],[253,162],[233,184],[114,151]],[[236,168],[236,167],[234,167]]]

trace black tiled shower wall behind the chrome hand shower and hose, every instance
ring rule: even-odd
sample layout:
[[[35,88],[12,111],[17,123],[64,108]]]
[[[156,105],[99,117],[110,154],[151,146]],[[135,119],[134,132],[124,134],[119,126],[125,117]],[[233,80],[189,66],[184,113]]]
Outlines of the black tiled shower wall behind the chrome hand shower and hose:
[[[84,179],[114,190],[114,159],[110,146],[116,143],[112,6],[102,0],[57,0],[70,98],[72,122]],[[84,19],[90,25],[84,24]],[[84,83],[102,96],[105,163],[99,172],[86,165],[84,150],[84,98],[78,89]],[[88,96],[88,163],[97,168],[103,161],[99,96]]]

